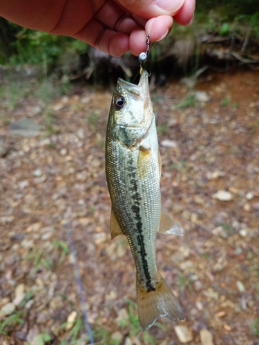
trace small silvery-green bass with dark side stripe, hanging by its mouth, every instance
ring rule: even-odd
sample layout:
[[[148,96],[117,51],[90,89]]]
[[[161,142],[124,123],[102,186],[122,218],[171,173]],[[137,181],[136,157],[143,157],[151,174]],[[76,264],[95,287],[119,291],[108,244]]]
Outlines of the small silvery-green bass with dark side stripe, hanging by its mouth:
[[[142,330],[159,317],[184,319],[171,288],[157,270],[157,233],[182,235],[161,206],[161,158],[155,115],[142,70],[137,85],[119,78],[106,130],[106,180],[111,196],[111,237],[125,235],[136,266]]]

